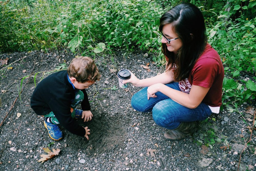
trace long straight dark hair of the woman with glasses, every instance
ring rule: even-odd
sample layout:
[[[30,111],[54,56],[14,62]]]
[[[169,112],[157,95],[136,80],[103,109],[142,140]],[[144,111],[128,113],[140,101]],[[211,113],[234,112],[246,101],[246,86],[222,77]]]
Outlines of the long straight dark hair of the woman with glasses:
[[[174,80],[180,81],[188,78],[196,60],[202,54],[207,44],[204,17],[200,10],[193,4],[179,4],[160,18],[159,30],[163,26],[172,24],[173,31],[182,42],[182,47],[177,52],[170,52],[165,43],[162,43],[162,52],[167,58],[169,69],[176,64],[177,69],[174,71]]]

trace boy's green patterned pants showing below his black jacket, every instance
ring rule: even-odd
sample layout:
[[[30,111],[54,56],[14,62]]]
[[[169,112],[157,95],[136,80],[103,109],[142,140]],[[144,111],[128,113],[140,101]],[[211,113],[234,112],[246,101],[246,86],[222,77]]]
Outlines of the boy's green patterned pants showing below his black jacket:
[[[71,112],[71,117],[74,118],[76,116],[76,106],[83,101],[84,94],[81,90],[78,90],[75,94],[75,99],[72,100],[71,105],[70,105],[70,112]],[[44,117],[50,117],[52,123],[54,124],[59,124],[58,119],[55,117],[54,113],[51,111],[47,115],[43,115]]]

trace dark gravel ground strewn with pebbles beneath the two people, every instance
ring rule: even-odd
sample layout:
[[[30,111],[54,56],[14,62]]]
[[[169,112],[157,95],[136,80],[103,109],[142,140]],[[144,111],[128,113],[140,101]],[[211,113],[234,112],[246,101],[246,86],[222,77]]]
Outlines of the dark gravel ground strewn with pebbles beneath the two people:
[[[117,72],[110,71],[127,68],[138,78],[147,78],[163,72],[163,68],[152,63],[151,56],[144,58],[140,51],[127,58],[121,53],[114,58],[96,57],[102,78],[87,89],[93,119],[77,121],[91,129],[90,140],[62,129],[64,137],[57,142],[49,138],[43,117],[34,113],[29,100],[35,89],[35,73],[40,72],[38,83],[61,63],[68,66],[74,56],[65,50],[61,54],[33,51],[0,55],[1,59],[6,57],[13,69],[0,68],[1,122],[17,101],[0,127],[0,170],[238,170],[253,120],[245,111],[248,106],[255,108],[255,101],[239,106],[247,123],[239,112],[224,110],[201,122],[194,135],[171,142],[163,137],[166,129],[155,124],[152,113],[131,107],[132,95],[141,88],[131,84],[127,89],[119,88]],[[22,78],[30,73],[32,76],[23,80],[19,97]],[[38,162],[40,155],[46,154],[42,148],[48,146],[60,149],[59,155]],[[242,152],[239,170],[256,170],[255,149],[254,129],[250,144]]]

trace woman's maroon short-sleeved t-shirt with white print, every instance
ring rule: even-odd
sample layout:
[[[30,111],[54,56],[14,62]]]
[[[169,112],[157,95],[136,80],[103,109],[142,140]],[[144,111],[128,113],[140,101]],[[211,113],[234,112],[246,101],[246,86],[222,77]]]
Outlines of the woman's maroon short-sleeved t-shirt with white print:
[[[185,93],[190,92],[192,84],[210,88],[202,102],[217,107],[221,106],[223,78],[224,68],[220,56],[211,45],[207,44],[204,52],[192,68],[189,77],[179,81],[179,88]]]

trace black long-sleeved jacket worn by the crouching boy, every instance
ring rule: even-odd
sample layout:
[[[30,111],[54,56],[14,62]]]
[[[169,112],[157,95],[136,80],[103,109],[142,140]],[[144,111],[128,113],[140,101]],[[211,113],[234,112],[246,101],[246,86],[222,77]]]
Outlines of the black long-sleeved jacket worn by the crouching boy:
[[[85,89],[81,91],[84,93],[82,110],[91,110]],[[52,111],[66,130],[84,136],[85,129],[71,117],[70,105],[74,98],[75,90],[68,81],[67,71],[59,71],[39,82],[32,94],[30,106],[37,115],[46,115]]]

